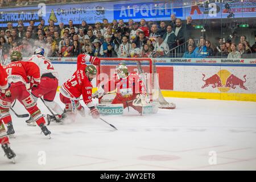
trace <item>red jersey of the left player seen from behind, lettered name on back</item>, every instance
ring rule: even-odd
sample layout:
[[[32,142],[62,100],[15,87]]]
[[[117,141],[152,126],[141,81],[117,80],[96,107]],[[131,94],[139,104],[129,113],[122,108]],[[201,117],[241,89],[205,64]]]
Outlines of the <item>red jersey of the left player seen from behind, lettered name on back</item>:
[[[7,79],[9,83],[11,82],[34,82],[34,84],[40,83],[40,69],[38,65],[31,61],[15,61],[13,63],[7,64],[5,67],[7,72]],[[31,77],[28,80],[28,77]]]

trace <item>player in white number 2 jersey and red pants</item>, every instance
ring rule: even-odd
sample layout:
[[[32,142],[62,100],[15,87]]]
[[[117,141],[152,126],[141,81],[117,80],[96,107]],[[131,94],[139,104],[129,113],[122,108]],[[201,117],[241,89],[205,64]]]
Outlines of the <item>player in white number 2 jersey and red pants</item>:
[[[60,105],[54,101],[56,96],[57,87],[59,85],[58,73],[53,68],[51,61],[44,57],[44,48],[36,47],[34,55],[28,60],[38,65],[40,69],[41,81],[38,87],[32,88],[31,94],[35,101],[39,97],[43,97],[44,104],[57,113],[56,115],[47,114],[47,120],[49,122],[60,122],[64,117],[63,110]],[[30,117],[26,121],[30,126],[36,126],[34,119]]]

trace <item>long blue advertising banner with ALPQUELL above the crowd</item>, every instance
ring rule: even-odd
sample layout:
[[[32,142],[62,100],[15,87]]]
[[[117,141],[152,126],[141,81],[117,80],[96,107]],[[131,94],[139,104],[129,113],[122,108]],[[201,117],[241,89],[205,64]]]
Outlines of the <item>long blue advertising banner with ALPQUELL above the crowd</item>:
[[[222,0],[224,1],[224,0]],[[189,2],[189,3],[188,3]],[[255,18],[256,2],[245,0],[244,2],[219,2],[204,1],[204,3],[195,4],[199,1],[114,1],[104,3],[79,3],[69,5],[45,5],[39,3],[33,7],[12,7],[11,9],[0,9],[0,27],[6,27],[7,22],[13,22],[17,25],[19,19],[22,19],[25,26],[28,26],[30,20],[38,25],[40,20],[44,19],[46,25],[49,20],[55,24],[73,20],[74,24],[81,24],[85,20],[89,24],[102,22],[107,18],[109,22],[114,19],[123,19],[128,22],[129,19],[139,21],[142,18],[146,21],[170,20],[171,14],[177,18],[186,19],[192,16],[192,19],[212,19],[212,18],[230,18],[230,12],[234,18]],[[229,9],[227,9],[227,3]]]

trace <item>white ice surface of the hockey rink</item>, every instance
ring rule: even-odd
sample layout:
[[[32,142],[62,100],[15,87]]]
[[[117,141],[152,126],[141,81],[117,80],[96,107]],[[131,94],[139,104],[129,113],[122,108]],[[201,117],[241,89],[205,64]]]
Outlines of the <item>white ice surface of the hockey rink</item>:
[[[126,110],[119,117],[102,116],[118,131],[89,115],[65,125],[52,123],[51,139],[12,113],[16,164],[1,151],[0,170],[256,169],[256,102],[166,100],[177,108],[154,115]],[[48,113],[41,101],[38,105]],[[26,113],[18,106],[17,113]]]

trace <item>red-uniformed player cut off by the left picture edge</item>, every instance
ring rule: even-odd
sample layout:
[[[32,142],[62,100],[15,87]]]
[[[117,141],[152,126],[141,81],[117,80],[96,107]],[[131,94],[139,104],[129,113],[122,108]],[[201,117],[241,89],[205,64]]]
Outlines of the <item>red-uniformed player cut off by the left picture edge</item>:
[[[3,69],[2,65],[0,64],[0,92],[1,97],[11,97],[11,92],[9,90],[9,83],[7,82],[7,74],[5,69]],[[5,126],[2,123],[1,112],[0,112],[0,144],[5,152],[5,155],[8,159],[14,159],[15,153],[10,148],[9,137],[6,133]]]

